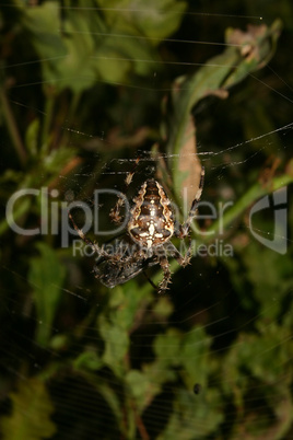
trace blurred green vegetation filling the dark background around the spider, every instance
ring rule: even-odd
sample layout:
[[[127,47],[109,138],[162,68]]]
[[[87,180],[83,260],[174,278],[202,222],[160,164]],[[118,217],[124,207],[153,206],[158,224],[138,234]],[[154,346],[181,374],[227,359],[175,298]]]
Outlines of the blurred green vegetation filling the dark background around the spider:
[[[291,124],[292,5],[145,4],[14,0],[0,9],[3,439],[293,436],[292,246],[284,255],[263,247],[247,219],[256,200],[293,181],[292,134],[278,131]],[[202,198],[234,200],[223,219],[233,258],[194,258],[186,269],[172,262],[166,296],[143,276],[109,292],[93,259],[73,257],[60,233],[10,229],[15,192],[48,188],[59,204],[48,216],[61,219],[70,194],[89,200],[96,187],[122,188],[118,160],[128,172],[139,150],[152,152],[178,201],[199,174],[198,159],[179,154],[213,153],[198,157]],[[44,227],[42,213],[40,196],[13,211],[25,229]],[[273,234],[272,219],[258,221]],[[201,228],[216,233],[219,223]]]

